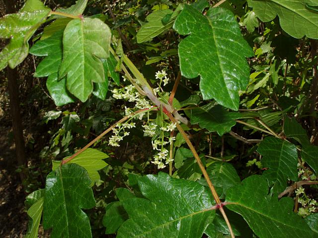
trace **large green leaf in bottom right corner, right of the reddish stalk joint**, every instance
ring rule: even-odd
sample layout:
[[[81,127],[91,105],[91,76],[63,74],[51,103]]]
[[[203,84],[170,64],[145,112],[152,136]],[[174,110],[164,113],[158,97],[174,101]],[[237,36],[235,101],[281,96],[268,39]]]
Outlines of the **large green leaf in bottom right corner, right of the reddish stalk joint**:
[[[231,187],[226,207],[239,213],[259,238],[314,238],[306,222],[293,212],[292,198],[270,197],[264,177],[254,175]]]

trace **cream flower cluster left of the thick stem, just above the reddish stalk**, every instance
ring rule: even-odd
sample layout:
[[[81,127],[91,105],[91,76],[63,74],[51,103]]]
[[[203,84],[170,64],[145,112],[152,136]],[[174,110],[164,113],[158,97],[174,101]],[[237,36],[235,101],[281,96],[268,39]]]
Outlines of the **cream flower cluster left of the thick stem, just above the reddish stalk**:
[[[143,97],[133,85],[128,85],[121,89],[113,89],[113,97],[116,99],[124,99],[128,102],[135,102],[137,109],[150,109],[150,103]]]

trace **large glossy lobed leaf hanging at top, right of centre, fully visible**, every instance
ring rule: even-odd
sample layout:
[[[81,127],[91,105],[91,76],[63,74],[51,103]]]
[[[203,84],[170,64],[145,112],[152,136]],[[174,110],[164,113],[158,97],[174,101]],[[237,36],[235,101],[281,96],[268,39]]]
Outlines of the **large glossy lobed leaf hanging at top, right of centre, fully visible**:
[[[200,75],[204,100],[215,99],[224,107],[238,110],[239,90],[245,90],[249,78],[245,57],[254,54],[241,36],[233,13],[215,7],[204,16],[185,5],[173,28],[181,35],[190,34],[178,46],[182,75]]]

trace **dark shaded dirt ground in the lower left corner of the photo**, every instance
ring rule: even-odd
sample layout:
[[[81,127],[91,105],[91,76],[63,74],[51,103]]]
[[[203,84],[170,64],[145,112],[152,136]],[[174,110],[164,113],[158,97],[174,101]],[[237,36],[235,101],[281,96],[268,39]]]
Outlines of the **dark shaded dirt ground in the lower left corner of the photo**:
[[[16,170],[10,127],[0,126],[0,238],[23,238],[28,227],[24,192]],[[39,229],[39,237],[49,237]]]

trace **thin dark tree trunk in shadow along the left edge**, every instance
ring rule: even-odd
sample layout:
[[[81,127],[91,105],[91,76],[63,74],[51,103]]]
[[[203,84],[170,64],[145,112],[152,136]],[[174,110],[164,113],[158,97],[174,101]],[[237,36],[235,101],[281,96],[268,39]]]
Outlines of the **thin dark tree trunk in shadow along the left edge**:
[[[15,12],[15,4],[12,4],[11,0],[4,0],[7,13]],[[20,100],[19,100],[19,86],[18,86],[18,73],[16,68],[11,69],[6,67],[6,77],[8,79],[9,99],[10,99],[10,111],[12,120],[12,129],[15,142],[16,160],[18,166],[27,167],[27,160],[25,156],[25,144],[23,138],[23,127],[20,115]],[[20,172],[20,179],[23,181],[26,179],[24,171]]]

